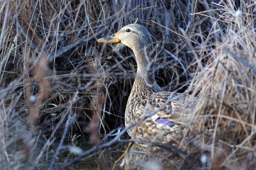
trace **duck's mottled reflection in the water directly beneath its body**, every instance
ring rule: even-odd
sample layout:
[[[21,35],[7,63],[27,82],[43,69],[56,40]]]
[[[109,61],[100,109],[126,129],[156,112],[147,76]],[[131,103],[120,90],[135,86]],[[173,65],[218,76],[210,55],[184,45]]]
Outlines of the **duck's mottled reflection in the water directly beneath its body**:
[[[122,164],[128,169],[191,169],[198,167],[196,161],[188,153],[173,146],[148,146],[147,148],[132,144]]]

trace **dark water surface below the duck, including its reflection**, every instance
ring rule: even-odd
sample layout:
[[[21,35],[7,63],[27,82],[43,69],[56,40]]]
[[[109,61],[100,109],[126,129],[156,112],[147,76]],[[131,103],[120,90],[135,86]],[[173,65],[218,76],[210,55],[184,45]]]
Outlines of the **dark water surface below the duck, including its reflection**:
[[[90,150],[93,144],[77,143],[83,150]],[[116,143],[107,149],[97,150],[89,157],[82,158],[76,164],[68,166],[67,169],[195,169],[200,166],[198,160],[186,153],[186,148],[178,147],[177,143],[154,144],[147,147],[136,143],[125,151],[124,143]],[[187,146],[186,146],[187,147]],[[125,154],[124,154],[125,153]],[[117,162],[124,154],[124,158]],[[72,160],[76,155],[60,155],[59,163]]]

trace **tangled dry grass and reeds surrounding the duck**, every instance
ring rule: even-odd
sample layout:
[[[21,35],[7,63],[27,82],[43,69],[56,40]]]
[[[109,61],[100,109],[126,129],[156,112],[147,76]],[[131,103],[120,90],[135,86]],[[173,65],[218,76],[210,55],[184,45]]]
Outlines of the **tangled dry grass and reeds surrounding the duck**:
[[[96,40],[136,20],[152,33],[157,82],[200,100],[180,148],[202,169],[255,167],[255,2],[0,4],[1,168],[52,169],[81,153],[81,136],[94,143],[84,157],[118,144],[106,134],[124,126],[136,63]]]

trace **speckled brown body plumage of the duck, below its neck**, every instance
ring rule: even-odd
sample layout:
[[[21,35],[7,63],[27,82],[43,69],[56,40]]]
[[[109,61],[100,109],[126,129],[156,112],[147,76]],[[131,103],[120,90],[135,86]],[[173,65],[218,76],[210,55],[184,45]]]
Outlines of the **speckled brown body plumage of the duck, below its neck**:
[[[171,123],[173,119],[186,118],[193,111],[196,102],[197,98],[191,95],[158,91],[156,87],[148,89],[137,78],[126,105],[125,126],[132,125],[145,116],[148,118],[140,125],[129,129],[128,134],[132,139],[161,143],[172,141],[173,137],[182,133],[180,125],[170,126],[168,123],[157,122],[157,119],[164,119]],[[156,111],[155,114],[154,111]],[[179,119],[179,121],[182,120]]]

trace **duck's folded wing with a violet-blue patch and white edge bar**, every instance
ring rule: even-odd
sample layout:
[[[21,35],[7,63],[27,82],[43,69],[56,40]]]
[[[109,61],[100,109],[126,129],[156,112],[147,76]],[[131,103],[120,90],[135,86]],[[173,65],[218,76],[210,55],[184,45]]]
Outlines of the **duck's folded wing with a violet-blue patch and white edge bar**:
[[[136,112],[141,116],[147,116],[156,111],[156,114],[150,116],[152,121],[173,127],[172,120],[191,114],[196,103],[197,98],[191,95],[164,91],[153,93],[142,100]]]

